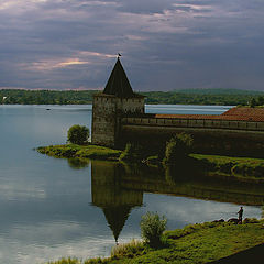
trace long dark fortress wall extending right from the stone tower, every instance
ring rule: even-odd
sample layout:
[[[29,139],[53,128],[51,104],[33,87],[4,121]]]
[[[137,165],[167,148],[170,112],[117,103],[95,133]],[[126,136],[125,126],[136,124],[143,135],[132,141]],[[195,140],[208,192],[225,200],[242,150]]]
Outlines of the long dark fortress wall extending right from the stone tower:
[[[176,133],[194,136],[195,152],[264,156],[264,123],[227,120],[122,118],[120,144],[138,142],[163,150]]]

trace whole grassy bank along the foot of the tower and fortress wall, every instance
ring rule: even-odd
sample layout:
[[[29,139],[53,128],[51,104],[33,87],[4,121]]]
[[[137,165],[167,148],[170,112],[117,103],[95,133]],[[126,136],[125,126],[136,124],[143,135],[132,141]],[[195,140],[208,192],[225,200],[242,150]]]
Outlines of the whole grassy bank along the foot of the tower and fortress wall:
[[[65,144],[65,145],[51,145],[40,146],[36,148],[40,153],[46,154],[53,157],[65,157],[65,158],[79,158],[79,160],[105,160],[105,161],[119,161],[120,156],[125,162],[135,162],[139,158],[136,155],[113,150],[105,146],[97,145],[77,145],[77,144]],[[122,154],[122,155],[121,155]],[[138,162],[141,162],[138,160]],[[157,156],[151,156],[145,160],[147,164],[158,164],[162,161]],[[175,163],[177,167],[177,161]],[[185,166],[182,161],[180,166]],[[190,158],[186,160],[186,167],[194,167],[195,170],[199,169],[208,175],[220,175],[220,176],[232,176],[241,179],[250,180],[263,180],[264,179],[264,160],[262,158],[250,158],[250,157],[230,157],[230,156],[218,156],[218,155],[204,155],[204,154],[190,154]]]

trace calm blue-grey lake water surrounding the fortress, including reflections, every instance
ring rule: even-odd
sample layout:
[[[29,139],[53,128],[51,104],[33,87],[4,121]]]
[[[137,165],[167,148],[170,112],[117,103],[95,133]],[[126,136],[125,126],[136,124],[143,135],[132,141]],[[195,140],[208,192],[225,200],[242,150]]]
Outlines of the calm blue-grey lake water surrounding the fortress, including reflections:
[[[161,105],[146,112],[220,114],[229,108]],[[73,124],[90,128],[91,106],[0,106],[0,263],[107,256],[116,239],[140,238],[146,211],[165,215],[168,229],[235,217],[240,205],[244,217],[261,217],[261,186],[143,165],[79,164],[33,150],[65,143]]]

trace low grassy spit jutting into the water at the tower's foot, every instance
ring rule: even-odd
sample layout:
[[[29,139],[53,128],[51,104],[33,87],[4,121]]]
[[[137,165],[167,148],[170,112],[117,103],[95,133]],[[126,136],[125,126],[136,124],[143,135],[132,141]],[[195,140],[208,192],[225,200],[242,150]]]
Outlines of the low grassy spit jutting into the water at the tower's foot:
[[[97,145],[51,145],[36,148],[40,153],[54,157],[75,157],[95,160],[119,160],[121,151]]]

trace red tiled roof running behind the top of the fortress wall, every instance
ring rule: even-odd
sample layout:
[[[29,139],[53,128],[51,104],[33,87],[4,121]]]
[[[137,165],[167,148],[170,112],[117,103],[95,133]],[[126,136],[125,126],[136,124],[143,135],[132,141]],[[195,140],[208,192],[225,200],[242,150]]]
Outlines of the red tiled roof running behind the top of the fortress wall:
[[[222,114],[155,114],[155,118],[264,122],[264,108],[231,108]]]

